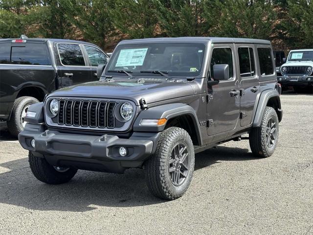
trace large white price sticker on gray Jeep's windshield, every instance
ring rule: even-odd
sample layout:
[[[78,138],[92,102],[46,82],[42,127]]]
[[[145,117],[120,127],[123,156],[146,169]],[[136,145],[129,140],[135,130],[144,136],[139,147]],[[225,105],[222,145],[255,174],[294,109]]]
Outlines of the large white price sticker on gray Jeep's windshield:
[[[142,66],[148,48],[123,49],[119,52],[115,67]]]

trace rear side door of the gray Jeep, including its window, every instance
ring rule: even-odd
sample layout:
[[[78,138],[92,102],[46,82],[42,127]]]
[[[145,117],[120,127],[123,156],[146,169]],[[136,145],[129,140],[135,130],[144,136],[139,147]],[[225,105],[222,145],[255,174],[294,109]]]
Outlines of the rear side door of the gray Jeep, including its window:
[[[238,53],[237,70],[240,77],[240,125],[252,123],[255,100],[260,93],[259,77],[256,72],[256,51],[254,45],[236,45]]]

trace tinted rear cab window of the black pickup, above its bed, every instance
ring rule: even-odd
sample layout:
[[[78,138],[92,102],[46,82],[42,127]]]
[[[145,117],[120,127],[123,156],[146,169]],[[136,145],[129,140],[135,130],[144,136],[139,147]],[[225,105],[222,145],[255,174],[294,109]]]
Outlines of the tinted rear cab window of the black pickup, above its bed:
[[[27,43],[11,47],[11,64],[51,65],[45,44]]]

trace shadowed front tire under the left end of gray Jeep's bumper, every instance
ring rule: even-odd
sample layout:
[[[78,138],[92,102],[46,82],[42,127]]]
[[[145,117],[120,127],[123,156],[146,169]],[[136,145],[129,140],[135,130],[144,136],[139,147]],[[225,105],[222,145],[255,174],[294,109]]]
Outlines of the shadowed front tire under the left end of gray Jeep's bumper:
[[[65,172],[57,171],[44,158],[35,157],[31,152],[28,153],[28,162],[34,176],[50,185],[59,185],[70,181],[77,172],[77,169],[69,168]]]

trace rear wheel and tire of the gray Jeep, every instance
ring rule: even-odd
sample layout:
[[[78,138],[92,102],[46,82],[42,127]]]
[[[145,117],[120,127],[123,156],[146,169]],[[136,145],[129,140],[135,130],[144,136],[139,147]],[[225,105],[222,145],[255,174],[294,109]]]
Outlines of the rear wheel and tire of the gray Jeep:
[[[276,148],[279,134],[279,121],[275,109],[266,107],[261,126],[253,127],[249,134],[250,148],[254,156],[268,158]]]

